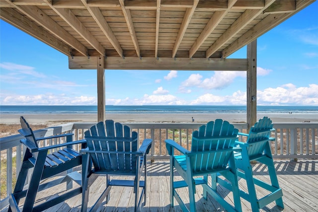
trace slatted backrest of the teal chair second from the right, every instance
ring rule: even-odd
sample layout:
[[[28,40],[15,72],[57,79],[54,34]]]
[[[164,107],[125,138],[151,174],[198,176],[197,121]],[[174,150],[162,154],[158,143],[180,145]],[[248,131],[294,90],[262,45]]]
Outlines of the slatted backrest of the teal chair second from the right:
[[[225,168],[233,151],[238,129],[217,119],[192,133],[190,161],[195,172]]]

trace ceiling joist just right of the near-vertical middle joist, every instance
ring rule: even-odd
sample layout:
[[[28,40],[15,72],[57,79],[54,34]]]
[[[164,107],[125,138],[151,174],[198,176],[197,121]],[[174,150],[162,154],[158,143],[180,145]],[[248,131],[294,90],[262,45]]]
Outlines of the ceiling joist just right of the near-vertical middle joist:
[[[175,40],[175,43],[174,43],[174,46],[172,49],[172,58],[175,57],[175,54],[178,51],[178,48],[180,46],[180,43],[181,43],[182,38],[184,36],[184,33],[188,28],[188,25],[191,21],[192,15],[195,12],[195,8],[198,5],[198,3],[199,3],[199,0],[193,0],[193,6],[191,8],[187,8],[187,10],[185,11],[185,14],[184,14],[184,17],[183,17],[183,20],[182,20],[182,23],[181,23],[181,26],[180,26],[180,29],[178,32],[178,36]]]

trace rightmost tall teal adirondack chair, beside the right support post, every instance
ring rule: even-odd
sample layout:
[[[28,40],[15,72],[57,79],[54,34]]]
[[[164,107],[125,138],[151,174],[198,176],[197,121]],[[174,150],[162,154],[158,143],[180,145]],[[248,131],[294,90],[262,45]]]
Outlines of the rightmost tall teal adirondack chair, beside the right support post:
[[[241,153],[238,153],[235,156],[238,176],[246,180],[248,188],[248,194],[240,191],[240,195],[242,198],[250,202],[253,212],[258,212],[259,209],[274,201],[276,201],[276,205],[278,207],[282,209],[284,208],[282,199],[283,192],[278,184],[269,144],[269,141],[273,141],[275,139],[270,137],[271,131],[274,130],[272,121],[268,117],[263,117],[251,127],[249,134],[239,133],[239,135],[247,137],[246,142],[236,141],[236,143],[241,147]],[[271,181],[270,184],[253,176],[250,161],[258,161],[267,165]],[[261,198],[257,198],[255,185],[268,190],[269,194]]]

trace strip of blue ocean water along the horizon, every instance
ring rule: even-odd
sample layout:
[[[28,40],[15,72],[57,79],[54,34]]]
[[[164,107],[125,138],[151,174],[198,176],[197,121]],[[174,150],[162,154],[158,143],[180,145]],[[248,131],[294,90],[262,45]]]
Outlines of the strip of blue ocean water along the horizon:
[[[203,105],[106,105],[106,113],[246,113],[246,106]],[[0,114],[97,114],[97,106],[7,106],[0,105]],[[257,113],[295,113],[318,115],[318,106],[257,106]]]

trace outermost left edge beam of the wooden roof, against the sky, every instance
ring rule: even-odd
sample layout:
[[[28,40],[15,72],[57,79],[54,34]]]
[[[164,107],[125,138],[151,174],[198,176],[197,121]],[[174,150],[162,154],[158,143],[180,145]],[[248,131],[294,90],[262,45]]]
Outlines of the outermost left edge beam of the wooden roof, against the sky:
[[[0,18],[63,54],[71,56],[72,48],[70,46],[52,36],[52,34],[44,30],[43,27],[39,27],[33,21],[25,18],[25,16],[21,15],[13,8],[1,8]]]

